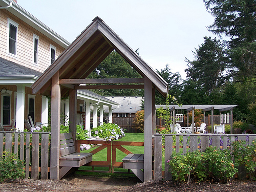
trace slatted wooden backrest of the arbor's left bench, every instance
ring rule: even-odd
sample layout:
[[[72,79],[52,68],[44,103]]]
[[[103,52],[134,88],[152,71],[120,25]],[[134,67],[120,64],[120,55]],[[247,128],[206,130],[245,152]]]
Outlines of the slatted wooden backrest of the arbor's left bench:
[[[59,138],[59,157],[76,152],[72,133],[61,133]]]

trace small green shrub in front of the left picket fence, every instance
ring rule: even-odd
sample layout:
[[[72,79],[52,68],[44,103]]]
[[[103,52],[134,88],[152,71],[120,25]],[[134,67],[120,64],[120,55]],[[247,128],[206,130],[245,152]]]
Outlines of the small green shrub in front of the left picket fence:
[[[17,158],[16,154],[4,152],[0,157],[0,182],[5,179],[20,179],[25,177],[24,161]]]

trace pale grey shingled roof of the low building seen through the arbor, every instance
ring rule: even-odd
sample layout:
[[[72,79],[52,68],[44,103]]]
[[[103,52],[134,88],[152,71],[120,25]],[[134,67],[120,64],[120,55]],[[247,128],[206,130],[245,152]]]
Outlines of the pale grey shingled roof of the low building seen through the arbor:
[[[136,113],[141,110],[142,97],[106,97],[119,103],[119,108],[113,113]],[[108,109],[106,109],[108,112]]]

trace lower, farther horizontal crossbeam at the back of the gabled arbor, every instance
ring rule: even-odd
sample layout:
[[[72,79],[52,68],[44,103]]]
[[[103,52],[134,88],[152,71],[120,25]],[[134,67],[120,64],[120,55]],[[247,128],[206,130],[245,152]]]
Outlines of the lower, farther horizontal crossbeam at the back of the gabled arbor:
[[[143,84],[112,84],[112,85],[98,85],[98,86],[75,86],[79,89],[144,89]]]

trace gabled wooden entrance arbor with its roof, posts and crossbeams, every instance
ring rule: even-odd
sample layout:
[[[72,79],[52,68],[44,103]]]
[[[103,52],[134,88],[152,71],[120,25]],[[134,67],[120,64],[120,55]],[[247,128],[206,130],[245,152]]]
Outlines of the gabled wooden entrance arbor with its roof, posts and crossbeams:
[[[113,50],[129,62],[142,78],[86,79]],[[80,84],[90,85],[81,86]],[[50,178],[57,180],[59,179],[60,98],[70,97],[70,130],[73,135],[76,135],[77,90],[144,89],[144,181],[152,179],[152,134],[156,119],[155,90],[166,97],[168,85],[103,20],[99,17],[93,19],[93,22],[35,81],[32,89],[34,94],[52,97]]]

